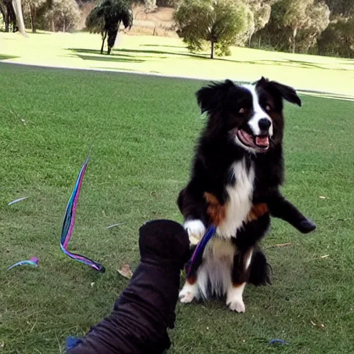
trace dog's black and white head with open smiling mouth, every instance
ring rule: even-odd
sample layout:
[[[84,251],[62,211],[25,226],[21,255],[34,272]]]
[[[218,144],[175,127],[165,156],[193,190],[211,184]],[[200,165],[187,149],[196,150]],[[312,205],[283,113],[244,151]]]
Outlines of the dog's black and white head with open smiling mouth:
[[[264,77],[248,85],[230,80],[201,88],[196,97],[209,122],[206,134],[227,136],[252,153],[261,153],[283,140],[283,100],[301,106],[294,88]]]

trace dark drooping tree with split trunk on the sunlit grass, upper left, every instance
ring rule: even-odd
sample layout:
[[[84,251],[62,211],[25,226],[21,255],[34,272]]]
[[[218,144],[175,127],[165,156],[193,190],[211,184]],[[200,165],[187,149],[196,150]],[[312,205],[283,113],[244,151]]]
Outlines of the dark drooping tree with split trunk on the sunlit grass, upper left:
[[[133,12],[129,0],[101,0],[91,10],[86,19],[86,27],[91,33],[101,33],[101,54],[107,35],[107,54],[111,53],[121,23],[124,28],[129,29],[133,25]]]

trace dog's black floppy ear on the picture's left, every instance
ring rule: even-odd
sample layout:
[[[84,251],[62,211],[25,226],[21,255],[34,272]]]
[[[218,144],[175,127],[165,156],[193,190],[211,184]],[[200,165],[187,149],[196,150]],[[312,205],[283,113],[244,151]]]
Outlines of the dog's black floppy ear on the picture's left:
[[[225,82],[213,83],[198,90],[196,99],[202,113],[218,109],[223,104],[229,89],[234,86],[231,80],[225,80]]]

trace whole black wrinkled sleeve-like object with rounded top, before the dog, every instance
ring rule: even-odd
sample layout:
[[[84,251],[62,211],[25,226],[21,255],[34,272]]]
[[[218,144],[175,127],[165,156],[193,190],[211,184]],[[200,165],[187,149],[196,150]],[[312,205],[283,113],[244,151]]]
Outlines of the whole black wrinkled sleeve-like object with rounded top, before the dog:
[[[140,227],[139,248],[138,268],[111,315],[67,354],[160,354],[171,346],[187,232],[174,221],[150,221]]]

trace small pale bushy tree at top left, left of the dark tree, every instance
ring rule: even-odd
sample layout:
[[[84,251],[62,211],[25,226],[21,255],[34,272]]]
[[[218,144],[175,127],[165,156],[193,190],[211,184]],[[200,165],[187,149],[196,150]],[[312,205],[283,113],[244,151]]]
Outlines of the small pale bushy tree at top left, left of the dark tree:
[[[46,28],[55,32],[73,31],[80,21],[80,10],[75,0],[53,0],[53,6],[44,15]]]

